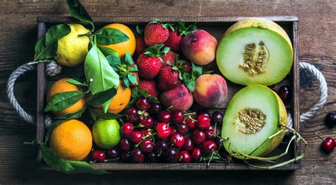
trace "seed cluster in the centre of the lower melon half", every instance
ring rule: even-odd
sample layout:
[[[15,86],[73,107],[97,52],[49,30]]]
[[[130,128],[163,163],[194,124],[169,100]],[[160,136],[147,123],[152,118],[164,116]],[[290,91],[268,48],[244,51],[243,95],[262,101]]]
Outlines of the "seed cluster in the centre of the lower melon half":
[[[241,133],[254,134],[262,130],[265,125],[266,115],[258,108],[244,108],[238,114],[235,123]]]

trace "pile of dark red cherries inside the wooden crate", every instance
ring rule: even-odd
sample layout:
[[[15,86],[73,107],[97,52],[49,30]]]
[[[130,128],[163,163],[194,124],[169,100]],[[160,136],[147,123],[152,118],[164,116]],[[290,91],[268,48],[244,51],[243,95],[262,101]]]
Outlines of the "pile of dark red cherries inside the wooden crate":
[[[200,162],[218,152],[223,113],[169,111],[144,97],[124,112],[118,147],[108,150],[109,159],[122,162]],[[221,147],[223,149],[223,146]],[[96,160],[97,162],[106,161]]]

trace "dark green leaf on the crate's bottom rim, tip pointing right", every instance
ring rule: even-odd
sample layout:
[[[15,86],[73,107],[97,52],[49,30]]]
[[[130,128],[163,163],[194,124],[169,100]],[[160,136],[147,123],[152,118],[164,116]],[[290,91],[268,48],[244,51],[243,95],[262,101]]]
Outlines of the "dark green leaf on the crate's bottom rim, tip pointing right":
[[[89,174],[111,174],[102,169],[93,169],[91,165],[84,161],[67,161],[74,167],[74,170],[68,171],[67,174],[89,173]]]

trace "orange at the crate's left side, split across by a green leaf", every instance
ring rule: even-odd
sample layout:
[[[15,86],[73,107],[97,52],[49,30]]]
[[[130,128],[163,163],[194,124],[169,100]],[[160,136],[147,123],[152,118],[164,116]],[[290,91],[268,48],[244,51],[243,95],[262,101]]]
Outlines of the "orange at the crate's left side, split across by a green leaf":
[[[47,92],[47,102],[50,101],[52,96],[54,96],[57,93],[67,92],[67,91],[80,91],[78,86],[75,86],[74,84],[70,84],[69,82],[67,82],[67,79],[68,78],[59,79],[59,80],[57,80],[57,82],[52,84],[49,91]],[[79,111],[80,109],[82,109],[84,107],[85,107],[85,100],[80,99],[79,101],[74,103],[74,105],[72,105],[68,108],[65,108],[65,110],[63,110],[63,111],[54,112],[54,114],[56,116],[61,116],[61,115],[65,115],[67,113],[74,113],[74,112]]]

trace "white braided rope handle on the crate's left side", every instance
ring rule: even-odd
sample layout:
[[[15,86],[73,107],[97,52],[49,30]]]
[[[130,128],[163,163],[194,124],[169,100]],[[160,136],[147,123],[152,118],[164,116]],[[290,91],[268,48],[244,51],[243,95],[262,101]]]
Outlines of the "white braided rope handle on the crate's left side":
[[[23,108],[20,106],[18,101],[16,100],[14,96],[14,84],[16,82],[16,79],[21,76],[21,74],[34,70],[35,67],[33,65],[21,65],[17,69],[15,69],[11,75],[9,76],[9,80],[7,82],[6,86],[6,92],[7,96],[9,98],[9,102],[11,102],[12,106],[14,107],[15,111],[18,113],[18,115],[23,118],[23,120],[26,120],[28,123],[34,124],[34,117],[28,114],[26,111],[23,110]]]

